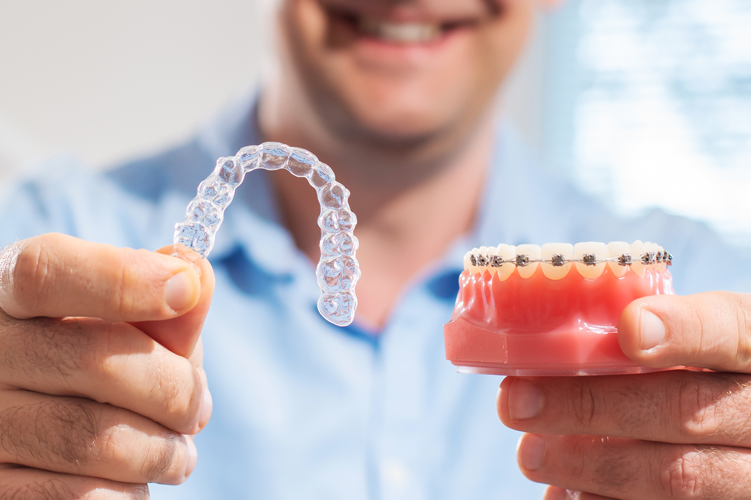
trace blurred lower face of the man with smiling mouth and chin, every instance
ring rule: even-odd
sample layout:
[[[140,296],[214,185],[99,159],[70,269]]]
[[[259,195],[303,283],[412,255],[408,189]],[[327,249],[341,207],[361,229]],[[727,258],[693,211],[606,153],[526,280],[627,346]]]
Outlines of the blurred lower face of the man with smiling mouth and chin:
[[[288,0],[288,69],[344,139],[461,135],[517,58],[533,1]]]

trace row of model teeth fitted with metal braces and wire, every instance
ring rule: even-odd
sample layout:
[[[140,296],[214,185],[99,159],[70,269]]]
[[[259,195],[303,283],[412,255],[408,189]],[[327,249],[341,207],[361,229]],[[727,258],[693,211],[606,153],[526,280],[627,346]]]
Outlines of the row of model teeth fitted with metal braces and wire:
[[[672,263],[673,256],[664,248],[638,240],[632,244],[625,241],[611,241],[608,244],[587,241],[575,245],[547,243],[542,247],[532,244],[517,247],[500,244],[498,247],[473,248],[464,256],[464,268],[470,274],[487,270],[501,278],[508,277],[514,268],[526,268],[520,270],[522,277],[532,276],[538,264],[542,266],[545,276],[560,279],[572,265],[576,265],[585,277],[594,278],[602,274],[606,264],[610,265],[617,276],[623,276],[626,268],[632,268],[641,275],[644,266],[657,265],[665,268]]]

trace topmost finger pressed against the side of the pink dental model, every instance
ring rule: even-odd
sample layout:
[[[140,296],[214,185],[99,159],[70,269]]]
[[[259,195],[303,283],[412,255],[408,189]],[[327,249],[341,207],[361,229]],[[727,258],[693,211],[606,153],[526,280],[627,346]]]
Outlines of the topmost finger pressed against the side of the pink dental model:
[[[618,322],[623,352],[647,367],[751,373],[751,295],[652,295],[629,304]]]

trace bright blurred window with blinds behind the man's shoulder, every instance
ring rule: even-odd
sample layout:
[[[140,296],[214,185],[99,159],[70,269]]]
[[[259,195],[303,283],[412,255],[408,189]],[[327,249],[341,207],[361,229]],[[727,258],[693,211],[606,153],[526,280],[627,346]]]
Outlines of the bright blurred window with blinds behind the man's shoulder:
[[[572,0],[550,20],[549,158],[622,214],[751,246],[751,1]]]

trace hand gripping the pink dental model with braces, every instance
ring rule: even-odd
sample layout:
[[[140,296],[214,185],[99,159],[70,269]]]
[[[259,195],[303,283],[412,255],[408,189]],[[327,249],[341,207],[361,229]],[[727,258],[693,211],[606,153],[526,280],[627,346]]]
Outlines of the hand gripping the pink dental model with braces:
[[[640,298],[618,339],[630,376],[506,377],[501,421],[546,500],[751,499],[751,295]]]

